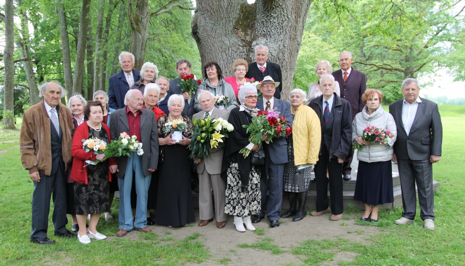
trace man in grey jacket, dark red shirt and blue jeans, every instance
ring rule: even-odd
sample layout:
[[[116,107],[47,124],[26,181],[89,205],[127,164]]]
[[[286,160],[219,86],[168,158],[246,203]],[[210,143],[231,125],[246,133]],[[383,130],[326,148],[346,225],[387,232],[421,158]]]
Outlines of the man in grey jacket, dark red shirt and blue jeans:
[[[129,90],[124,97],[126,108],[116,110],[110,117],[110,132],[112,140],[117,140],[120,134],[126,132],[136,136],[142,143],[143,154],[130,152],[131,157],[116,157],[119,171],[118,187],[120,188],[120,231],[116,236],[125,236],[132,229],[140,232],[152,231],[147,227],[147,196],[152,172],[158,167],[158,128],[155,114],[142,108],[144,96],[139,90]],[[133,221],[131,208],[131,189],[135,176],[137,194],[136,217]]]

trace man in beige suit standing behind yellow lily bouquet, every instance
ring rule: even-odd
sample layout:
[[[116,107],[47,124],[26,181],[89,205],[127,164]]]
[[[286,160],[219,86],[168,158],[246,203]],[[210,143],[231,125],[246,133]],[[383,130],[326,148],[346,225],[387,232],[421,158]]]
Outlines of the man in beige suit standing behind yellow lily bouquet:
[[[229,112],[215,107],[214,95],[210,91],[197,91],[197,98],[202,107],[202,111],[193,115],[193,118],[205,119],[223,118],[228,120]],[[216,227],[225,227],[225,199],[226,183],[221,179],[221,162],[223,160],[223,148],[210,151],[210,157],[202,160],[196,159],[199,164],[197,173],[199,174],[199,226],[206,226],[213,221],[213,201],[211,188],[213,185],[213,196],[215,197]]]

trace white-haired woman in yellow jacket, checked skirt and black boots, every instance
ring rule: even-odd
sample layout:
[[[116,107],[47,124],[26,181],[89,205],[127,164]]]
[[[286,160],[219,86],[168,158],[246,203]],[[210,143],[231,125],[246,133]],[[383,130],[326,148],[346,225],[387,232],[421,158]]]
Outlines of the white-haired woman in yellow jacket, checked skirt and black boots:
[[[289,162],[284,168],[283,190],[287,192],[291,208],[281,217],[294,216],[292,221],[300,221],[307,215],[305,202],[312,169],[318,161],[321,125],[315,111],[305,105],[305,91],[292,90],[289,99],[294,120],[291,136],[287,138]]]

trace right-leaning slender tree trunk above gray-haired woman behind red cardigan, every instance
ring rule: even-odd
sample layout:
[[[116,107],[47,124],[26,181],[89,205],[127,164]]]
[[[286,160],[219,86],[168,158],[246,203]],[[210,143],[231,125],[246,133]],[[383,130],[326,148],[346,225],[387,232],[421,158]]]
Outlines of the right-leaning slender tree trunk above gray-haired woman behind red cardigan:
[[[84,61],[86,60],[86,34],[89,26],[89,6],[91,0],[82,0],[82,12],[80,15],[79,37],[76,49],[76,63],[74,64],[73,94],[82,94],[82,78],[84,75]]]

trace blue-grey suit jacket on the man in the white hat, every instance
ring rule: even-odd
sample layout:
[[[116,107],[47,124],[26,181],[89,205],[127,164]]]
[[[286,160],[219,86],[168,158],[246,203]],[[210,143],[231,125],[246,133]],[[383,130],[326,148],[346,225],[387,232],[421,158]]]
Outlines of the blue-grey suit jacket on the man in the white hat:
[[[256,107],[262,111],[264,110],[263,98],[257,100]],[[274,108],[278,108],[277,111],[280,112],[279,116],[286,117],[287,125],[292,127],[291,104],[283,100],[274,99],[273,109]],[[268,153],[274,164],[286,163],[289,161],[287,156],[287,141],[284,134],[277,136],[273,139],[273,142],[268,144]]]

